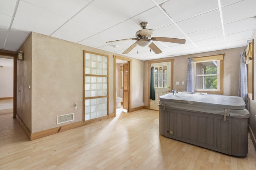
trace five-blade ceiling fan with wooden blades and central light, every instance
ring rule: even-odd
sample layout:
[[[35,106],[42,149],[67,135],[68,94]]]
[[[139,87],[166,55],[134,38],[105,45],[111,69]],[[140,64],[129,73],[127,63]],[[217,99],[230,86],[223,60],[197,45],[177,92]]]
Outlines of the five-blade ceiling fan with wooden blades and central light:
[[[162,53],[162,51],[153,43],[153,41],[160,41],[160,42],[171,42],[171,43],[181,43],[184,44],[186,42],[185,39],[178,39],[178,38],[166,38],[166,37],[152,37],[152,33],[154,30],[147,29],[148,23],[141,22],[140,27],[142,30],[136,32],[136,38],[128,38],[123,40],[115,40],[106,43],[113,43],[125,40],[136,40],[128,49],[126,49],[123,54],[128,54],[134,47],[140,45],[142,47],[150,47],[156,54]]]

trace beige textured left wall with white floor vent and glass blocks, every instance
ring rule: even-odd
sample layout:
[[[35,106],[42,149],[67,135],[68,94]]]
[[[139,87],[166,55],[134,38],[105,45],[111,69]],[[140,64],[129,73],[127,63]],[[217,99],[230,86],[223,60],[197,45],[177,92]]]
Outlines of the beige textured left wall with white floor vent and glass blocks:
[[[24,51],[25,59],[18,62],[21,93],[17,97],[17,113],[32,133],[82,121],[83,50],[109,55],[108,108],[114,113],[116,54],[32,32],[18,49]],[[132,108],[143,106],[143,63],[132,59]],[[75,120],[57,125],[57,116],[69,113],[75,114]]]

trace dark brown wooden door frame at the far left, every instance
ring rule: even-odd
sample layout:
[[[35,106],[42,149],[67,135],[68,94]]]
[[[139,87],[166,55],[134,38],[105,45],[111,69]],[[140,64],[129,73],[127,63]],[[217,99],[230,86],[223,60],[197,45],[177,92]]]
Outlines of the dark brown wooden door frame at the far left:
[[[15,119],[17,108],[17,54],[14,51],[0,50],[0,55],[13,58],[13,119]]]

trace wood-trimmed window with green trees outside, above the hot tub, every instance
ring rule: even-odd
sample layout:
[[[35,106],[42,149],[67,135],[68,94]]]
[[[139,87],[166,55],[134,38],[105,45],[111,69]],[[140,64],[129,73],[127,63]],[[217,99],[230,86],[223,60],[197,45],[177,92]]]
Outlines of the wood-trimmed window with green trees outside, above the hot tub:
[[[194,89],[223,94],[223,54],[194,58]]]

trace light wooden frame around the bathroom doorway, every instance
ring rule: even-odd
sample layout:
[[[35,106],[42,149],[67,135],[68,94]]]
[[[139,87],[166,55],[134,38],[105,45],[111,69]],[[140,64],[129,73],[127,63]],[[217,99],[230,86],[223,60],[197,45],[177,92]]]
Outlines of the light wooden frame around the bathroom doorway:
[[[127,112],[130,112],[132,110],[132,97],[131,97],[131,87],[132,87],[132,74],[131,74],[131,71],[132,71],[132,59],[130,58],[126,58],[126,57],[121,57],[121,56],[118,56],[118,55],[114,55],[114,117],[116,117],[116,59],[119,59],[119,60],[123,60],[123,61],[127,61],[127,62],[130,62],[129,64],[129,109],[127,110]]]

